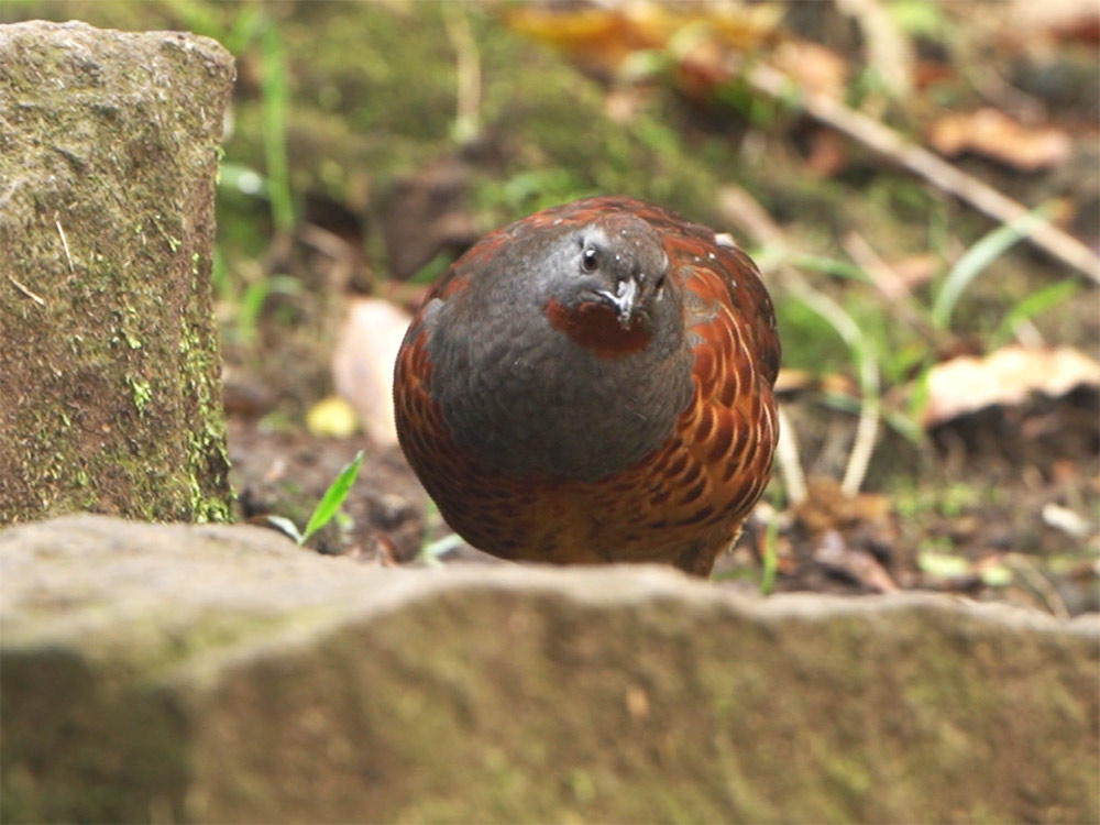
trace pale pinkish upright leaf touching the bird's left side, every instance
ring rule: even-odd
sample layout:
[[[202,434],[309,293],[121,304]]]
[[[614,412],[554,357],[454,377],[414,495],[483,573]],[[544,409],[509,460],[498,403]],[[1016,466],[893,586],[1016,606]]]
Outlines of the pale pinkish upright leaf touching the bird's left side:
[[[397,443],[394,362],[410,320],[408,312],[389,301],[359,298],[348,310],[332,353],[337,393],[355,409],[376,444]]]

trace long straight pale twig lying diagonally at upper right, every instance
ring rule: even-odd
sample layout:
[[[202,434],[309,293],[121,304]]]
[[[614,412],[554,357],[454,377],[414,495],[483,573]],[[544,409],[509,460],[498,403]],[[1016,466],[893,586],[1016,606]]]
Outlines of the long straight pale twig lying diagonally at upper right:
[[[746,78],[757,91],[784,101],[790,100],[791,92],[796,90],[790,77],[763,64],[749,69]],[[994,220],[1011,223],[1024,218],[1030,211],[989,184],[968,175],[923,146],[910,143],[889,127],[848,108],[838,100],[822,94],[805,92],[800,98],[800,105],[815,120],[862,143]],[[1049,221],[1036,219],[1030,222],[1025,237],[1035,246],[1100,283],[1100,256]]]

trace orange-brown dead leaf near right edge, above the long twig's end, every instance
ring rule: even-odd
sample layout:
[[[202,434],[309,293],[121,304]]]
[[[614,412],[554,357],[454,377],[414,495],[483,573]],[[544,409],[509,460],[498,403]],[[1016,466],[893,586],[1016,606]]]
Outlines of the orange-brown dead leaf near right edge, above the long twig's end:
[[[972,152],[1025,172],[1056,166],[1072,148],[1069,135],[1057,127],[1026,127],[988,108],[939,118],[928,141],[945,155]]]

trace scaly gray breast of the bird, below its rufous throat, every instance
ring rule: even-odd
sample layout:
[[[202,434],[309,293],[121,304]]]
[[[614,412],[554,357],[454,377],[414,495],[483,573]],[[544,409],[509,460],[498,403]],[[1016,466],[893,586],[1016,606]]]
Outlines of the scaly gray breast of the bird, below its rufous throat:
[[[601,359],[541,314],[502,312],[470,324],[450,323],[449,309],[431,319],[431,394],[459,446],[488,470],[604,477],[664,443],[691,398],[682,336]]]

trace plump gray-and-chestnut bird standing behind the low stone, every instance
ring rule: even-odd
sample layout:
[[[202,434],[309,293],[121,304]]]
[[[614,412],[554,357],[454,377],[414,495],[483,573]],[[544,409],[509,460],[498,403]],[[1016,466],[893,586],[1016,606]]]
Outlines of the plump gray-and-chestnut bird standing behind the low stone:
[[[752,260],[597,196],[482,238],[416,310],[400,447],[475,548],[710,576],[768,483],[780,340]]]

